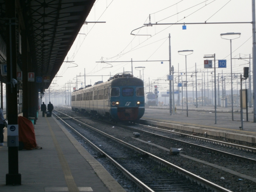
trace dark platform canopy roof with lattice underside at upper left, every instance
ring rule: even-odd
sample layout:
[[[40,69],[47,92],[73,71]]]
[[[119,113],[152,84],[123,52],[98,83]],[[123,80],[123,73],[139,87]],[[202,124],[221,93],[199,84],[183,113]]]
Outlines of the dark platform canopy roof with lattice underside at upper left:
[[[5,0],[7,1],[7,0]],[[5,1],[0,0],[0,62],[6,60]],[[50,76],[48,88],[83,26],[95,0],[16,0],[17,63],[26,30],[36,76]]]

